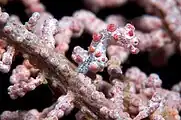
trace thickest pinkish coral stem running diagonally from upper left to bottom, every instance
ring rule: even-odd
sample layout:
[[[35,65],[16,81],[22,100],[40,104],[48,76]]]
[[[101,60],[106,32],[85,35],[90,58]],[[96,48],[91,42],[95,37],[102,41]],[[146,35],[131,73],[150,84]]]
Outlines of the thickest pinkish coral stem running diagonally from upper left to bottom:
[[[71,63],[62,54],[55,52],[52,48],[45,47],[45,42],[15,21],[7,21],[3,31],[10,38],[8,39],[10,43],[28,53],[30,61],[46,73],[46,78],[51,78],[51,81],[48,82],[52,87],[58,88],[64,93],[68,89],[76,93],[75,105],[77,107],[87,106],[100,119],[117,118],[115,116],[117,112],[114,111],[116,106],[106,99],[103,93],[96,91],[89,78],[76,73]],[[36,59],[31,59],[33,56],[37,56]],[[101,112],[102,107],[106,107],[110,112],[107,117]]]

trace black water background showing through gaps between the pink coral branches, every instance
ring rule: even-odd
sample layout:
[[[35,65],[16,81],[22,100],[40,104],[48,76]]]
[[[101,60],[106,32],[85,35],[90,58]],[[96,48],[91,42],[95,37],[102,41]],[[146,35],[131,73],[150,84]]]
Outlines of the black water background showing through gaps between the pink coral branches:
[[[63,16],[71,16],[74,11],[79,9],[86,9],[81,0],[42,0],[41,1],[45,6],[47,11],[52,13],[55,18],[60,19]],[[21,18],[21,21],[24,23],[28,20],[28,16],[24,12],[24,6],[18,2],[9,2],[6,6],[3,7],[4,11],[7,11],[10,14],[16,14]],[[121,14],[124,15],[127,19],[132,19],[134,17],[141,16],[145,14],[144,9],[136,5],[135,3],[128,3],[122,7],[114,9],[102,9],[96,15],[104,19],[109,14]],[[86,48],[91,42],[91,36],[84,33],[78,39],[72,39],[70,44],[70,49],[67,52],[67,57],[70,58],[73,47],[80,45]],[[162,67],[154,67],[149,62],[148,53],[139,53],[138,55],[130,55],[126,63],[123,64],[123,71],[131,66],[138,66],[146,74],[152,72],[160,75],[160,78],[163,80],[163,87],[170,89],[171,86],[181,79],[181,57],[180,53],[177,52],[172,57],[169,58],[168,64]],[[13,63],[12,69],[16,65],[22,63],[22,58],[20,56],[16,57],[15,62]],[[101,73],[106,77],[106,71]],[[47,85],[41,85],[36,90],[28,92],[23,98],[18,98],[17,100],[11,100],[7,94],[7,88],[10,85],[8,74],[0,73],[0,113],[4,110],[28,110],[36,108],[42,110],[45,107],[50,106],[54,100],[52,100],[52,93]],[[77,110],[75,109],[72,114]],[[73,115],[70,117],[65,117],[64,119],[74,118]]]

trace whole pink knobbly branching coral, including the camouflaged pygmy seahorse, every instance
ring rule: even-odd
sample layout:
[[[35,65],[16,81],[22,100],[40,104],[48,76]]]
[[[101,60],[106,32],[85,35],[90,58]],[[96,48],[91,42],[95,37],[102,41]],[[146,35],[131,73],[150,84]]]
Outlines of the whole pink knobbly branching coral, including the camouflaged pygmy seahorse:
[[[20,2],[30,16],[25,24],[0,9],[0,72],[12,70],[8,94],[15,100],[48,84],[58,97],[42,111],[5,110],[1,120],[59,120],[75,108],[76,120],[181,119],[181,82],[168,90],[157,73],[137,66],[122,70],[130,54],[149,52],[159,67],[180,50],[179,0],[83,0],[90,11],[77,10],[60,20],[39,0]],[[148,14],[131,20],[112,14],[104,21],[94,13],[127,2]],[[75,46],[67,58],[72,38],[84,33],[92,35],[89,46]],[[12,68],[17,55],[23,62]],[[101,76],[105,71],[109,78]]]

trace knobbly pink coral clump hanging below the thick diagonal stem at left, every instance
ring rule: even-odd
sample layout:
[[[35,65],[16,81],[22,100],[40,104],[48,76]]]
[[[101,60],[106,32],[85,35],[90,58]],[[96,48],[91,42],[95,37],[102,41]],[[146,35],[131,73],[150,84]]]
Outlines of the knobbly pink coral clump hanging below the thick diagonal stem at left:
[[[44,81],[44,75],[38,69],[27,64],[18,65],[10,77],[10,82],[13,85],[9,86],[8,94],[12,99],[16,99],[18,96],[23,97],[28,91],[34,90]]]

